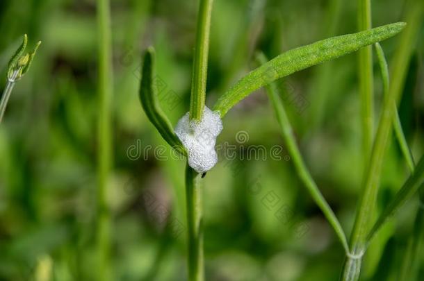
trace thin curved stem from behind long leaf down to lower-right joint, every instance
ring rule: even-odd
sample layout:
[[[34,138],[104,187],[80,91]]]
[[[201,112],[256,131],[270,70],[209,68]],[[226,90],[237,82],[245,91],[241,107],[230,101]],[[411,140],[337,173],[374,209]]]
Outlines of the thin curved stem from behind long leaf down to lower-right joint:
[[[256,56],[256,59],[261,65],[266,64],[268,62],[266,56],[263,53],[260,53]],[[272,107],[275,110],[275,114],[277,115],[277,120],[282,129],[282,136],[284,142],[286,143],[288,152],[291,155],[291,159],[295,164],[295,169],[297,171],[297,175],[302,180],[305,187],[307,187],[309,193],[311,194],[313,201],[320,207],[320,210],[323,212],[327,221],[334,232],[336,232],[337,237],[341,241],[343,248],[346,253],[349,253],[348,240],[346,239],[345,232],[339,223],[336,215],[334,214],[332,208],[328,205],[327,201],[323,194],[321,194],[316,182],[313,180],[311,173],[309,173],[306,164],[302,159],[302,155],[300,153],[299,148],[297,147],[295,136],[293,135],[293,128],[291,127],[290,121],[288,120],[288,116],[286,114],[286,110],[284,109],[284,104],[280,97],[277,94],[277,89],[274,83],[270,83],[266,85],[266,92],[268,93],[268,97],[272,104]]]

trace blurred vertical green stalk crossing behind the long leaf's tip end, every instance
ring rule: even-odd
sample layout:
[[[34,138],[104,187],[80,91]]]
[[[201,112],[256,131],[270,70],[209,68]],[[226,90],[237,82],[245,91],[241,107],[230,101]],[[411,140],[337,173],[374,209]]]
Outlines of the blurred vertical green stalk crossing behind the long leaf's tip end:
[[[371,29],[371,1],[358,0],[358,31]],[[373,146],[373,46],[359,50],[359,95],[361,97],[362,146],[365,163]]]

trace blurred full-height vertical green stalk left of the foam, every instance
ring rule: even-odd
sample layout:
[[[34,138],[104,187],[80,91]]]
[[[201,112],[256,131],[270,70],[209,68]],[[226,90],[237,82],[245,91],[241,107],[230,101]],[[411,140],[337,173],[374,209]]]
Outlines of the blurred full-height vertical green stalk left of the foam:
[[[98,98],[97,124],[97,267],[98,280],[111,280],[111,214],[107,184],[112,166],[111,99],[113,94],[111,10],[108,0],[97,0]]]

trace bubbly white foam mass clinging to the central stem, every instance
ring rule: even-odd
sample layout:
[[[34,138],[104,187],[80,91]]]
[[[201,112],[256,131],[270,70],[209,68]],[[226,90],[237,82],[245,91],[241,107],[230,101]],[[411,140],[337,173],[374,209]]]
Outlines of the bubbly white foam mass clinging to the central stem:
[[[188,152],[188,164],[197,173],[209,171],[218,162],[215,144],[221,130],[220,114],[206,106],[201,121],[190,121],[189,112],[179,119],[175,133]]]

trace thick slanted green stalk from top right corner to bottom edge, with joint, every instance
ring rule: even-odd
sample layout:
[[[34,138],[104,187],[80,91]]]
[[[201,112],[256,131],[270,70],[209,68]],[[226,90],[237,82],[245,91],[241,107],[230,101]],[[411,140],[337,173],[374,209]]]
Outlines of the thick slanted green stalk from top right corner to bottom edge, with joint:
[[[370,220],[373,218],[375,210],[375,201],[377,198],[378,185],[380,184],[380,174],[387,139],[391,132],[391,121],[395,117],[393,103],[397,104],[402,89],[405,85],[407,67],[411,59],[411,53],[414,49],[414,43],[417,38],[419,26],[421,24],[421,15],[423,11],[422,1],[415,1],[407,14],[408,25],[400,37],[400,45],[393,58],[391,72],[391,86],[389,94],[384,98],[383,109],[380,117],[380,123],[375,137],[373,151],[371,153],[370,163],[366,169],[364,190],[359,202],[359,210],[354,222],[350,249],[354,253],[355,260],[362,259],[364,255],[366,235]],[[359,278],[360,262],[352,262],[351,257],[347,257],[343,266],[341,280],[357,280]]]

